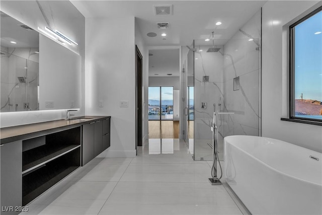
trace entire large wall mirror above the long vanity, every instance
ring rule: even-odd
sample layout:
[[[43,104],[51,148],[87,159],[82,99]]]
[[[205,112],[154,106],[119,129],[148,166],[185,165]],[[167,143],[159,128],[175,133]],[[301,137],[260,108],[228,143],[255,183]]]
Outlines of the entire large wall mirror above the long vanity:
[[[81,56],[1,12],[1,112],[81,106]]]

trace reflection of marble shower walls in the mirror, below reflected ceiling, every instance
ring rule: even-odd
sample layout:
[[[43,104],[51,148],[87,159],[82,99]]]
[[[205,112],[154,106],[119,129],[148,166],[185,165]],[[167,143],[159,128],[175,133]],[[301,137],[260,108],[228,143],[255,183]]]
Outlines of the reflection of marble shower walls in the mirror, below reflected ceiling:
[[[1,47],[1,112],[39,110],[37,51]]]

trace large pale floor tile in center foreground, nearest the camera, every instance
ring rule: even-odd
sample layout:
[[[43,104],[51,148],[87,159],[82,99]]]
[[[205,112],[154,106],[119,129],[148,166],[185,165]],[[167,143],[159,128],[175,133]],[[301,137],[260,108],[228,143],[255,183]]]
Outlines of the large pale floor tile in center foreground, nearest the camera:
[[[209,183],[119,182],[100,214],[241,214],[241,212],[222,186],[211,186]]]

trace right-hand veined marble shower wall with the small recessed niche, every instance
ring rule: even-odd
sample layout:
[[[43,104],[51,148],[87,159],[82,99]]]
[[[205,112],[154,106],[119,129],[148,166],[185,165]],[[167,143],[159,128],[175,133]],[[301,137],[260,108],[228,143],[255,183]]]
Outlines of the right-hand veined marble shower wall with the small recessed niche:
[[[261,134],[260,40],[261,11],[224,45],[224,111],[234,112],[233,118],[226,117],[224,136]],[[234,91],[233,79],[237,77],[239,90]]]

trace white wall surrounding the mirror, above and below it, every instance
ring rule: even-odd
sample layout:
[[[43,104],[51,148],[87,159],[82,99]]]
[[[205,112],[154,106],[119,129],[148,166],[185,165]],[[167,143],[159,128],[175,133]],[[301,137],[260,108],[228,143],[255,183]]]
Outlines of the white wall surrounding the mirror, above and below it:
[[[41,6],[41,9],[39,5]],[[18,21],[36,29],[45,26],[57,28],[73,38],[78,46],[69,46],[82,57],[82,85],[85,84],[85,18],[69,1],[1,1],[1,10]],[[85,114],[85,88],[82,88],[82,105],[77,115]],[[50,121],[65,117],[65,110],[23,111],[0,113],[1,127]]]

